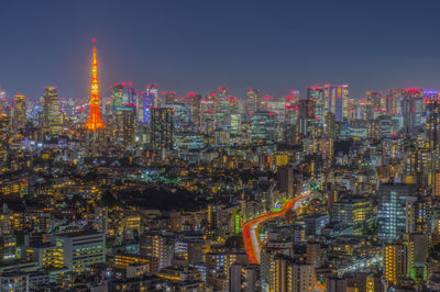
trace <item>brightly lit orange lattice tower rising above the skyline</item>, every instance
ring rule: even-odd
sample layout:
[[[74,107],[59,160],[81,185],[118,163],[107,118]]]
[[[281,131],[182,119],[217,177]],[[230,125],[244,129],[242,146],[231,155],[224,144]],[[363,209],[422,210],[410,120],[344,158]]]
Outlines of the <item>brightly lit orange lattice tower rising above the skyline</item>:
[[[96,43],[96,40],[94,40],[94,43]],[[96,47],[94,45],[94,60],[91,63],[90,114],[89,120],[86,123],[86,128],[89,131],[96,131],[105,127],[106,125],[102,122],[101,111],[99,110],[98,61],[96,59]]]

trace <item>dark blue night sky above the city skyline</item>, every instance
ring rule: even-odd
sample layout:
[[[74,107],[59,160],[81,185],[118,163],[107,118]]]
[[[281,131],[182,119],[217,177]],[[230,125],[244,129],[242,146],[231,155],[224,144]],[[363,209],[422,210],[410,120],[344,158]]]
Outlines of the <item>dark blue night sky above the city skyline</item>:
[[[108,87],[157,83],[182,96],[219,86],[284,96],[307,85],[366,90],[440,81],[440,1],[2,0],[0,83],[88,94],[91,40]]]

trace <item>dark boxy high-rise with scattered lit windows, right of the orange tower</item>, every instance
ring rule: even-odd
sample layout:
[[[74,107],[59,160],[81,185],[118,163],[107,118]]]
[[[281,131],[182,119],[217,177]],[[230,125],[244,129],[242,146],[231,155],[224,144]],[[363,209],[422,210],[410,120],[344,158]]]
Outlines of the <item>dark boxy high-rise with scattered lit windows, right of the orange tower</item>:
[[[172,149],[174,133],[174,110],[172,108],[153,108],[151,116],[153,148]]]

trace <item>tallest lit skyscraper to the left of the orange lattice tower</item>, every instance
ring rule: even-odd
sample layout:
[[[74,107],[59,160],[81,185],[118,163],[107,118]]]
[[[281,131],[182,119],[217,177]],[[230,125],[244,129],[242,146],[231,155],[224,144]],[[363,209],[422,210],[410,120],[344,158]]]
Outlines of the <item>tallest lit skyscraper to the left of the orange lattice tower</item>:
[[[58,91],[56,87],[44,88],[43,126],[52,133],[62,131]]]

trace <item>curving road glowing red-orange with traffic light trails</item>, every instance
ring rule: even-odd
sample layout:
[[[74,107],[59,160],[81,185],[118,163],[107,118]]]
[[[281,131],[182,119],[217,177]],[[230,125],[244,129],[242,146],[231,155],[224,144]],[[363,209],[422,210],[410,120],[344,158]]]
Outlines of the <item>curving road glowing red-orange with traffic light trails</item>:
[[[248,221],[244,226],[243,226],[243,239],[244,239],[244,246],[248,251],[249,260],[252,263],[260,263],[260,242],[257,237],[257,227],[261,223],[279,217],[286,214],[288,210],[292,210],[296,202],[304,200],[308,198],[309,195],[302,195],[298,196],[292,200],[288,200],[284,205],[283,209],[278,212],[266,212],[261,214],[258,217]]]

